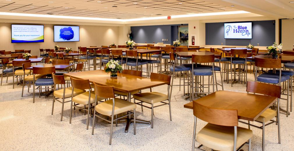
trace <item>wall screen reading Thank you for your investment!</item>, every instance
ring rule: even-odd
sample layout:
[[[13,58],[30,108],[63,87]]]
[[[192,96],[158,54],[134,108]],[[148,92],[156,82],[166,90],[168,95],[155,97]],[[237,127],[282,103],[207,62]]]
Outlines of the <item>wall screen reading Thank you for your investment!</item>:
[[[44,42],[44,25],[11,25],[11,43]]]

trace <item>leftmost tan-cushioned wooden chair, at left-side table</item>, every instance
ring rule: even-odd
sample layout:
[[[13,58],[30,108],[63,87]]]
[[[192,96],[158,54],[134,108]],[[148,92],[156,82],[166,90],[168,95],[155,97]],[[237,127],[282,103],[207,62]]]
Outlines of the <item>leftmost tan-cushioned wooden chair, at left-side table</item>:
[[[16,78],[16,84],[18,85],[18,79],[21,81],[24,76],[31,74],[31,70],[23,70],[22,64],[31,62],[30,60],[12,61],[13,68],[13,78],[12,78],[12,88],[14,89],[14,79]]]

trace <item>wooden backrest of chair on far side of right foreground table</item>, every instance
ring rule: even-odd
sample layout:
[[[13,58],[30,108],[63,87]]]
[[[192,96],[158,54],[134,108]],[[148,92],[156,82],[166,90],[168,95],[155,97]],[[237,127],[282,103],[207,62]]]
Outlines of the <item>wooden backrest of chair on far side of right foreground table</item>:
[[[277,98],[281,97],[281,86],[268,83],[248,81],[246,91]]]

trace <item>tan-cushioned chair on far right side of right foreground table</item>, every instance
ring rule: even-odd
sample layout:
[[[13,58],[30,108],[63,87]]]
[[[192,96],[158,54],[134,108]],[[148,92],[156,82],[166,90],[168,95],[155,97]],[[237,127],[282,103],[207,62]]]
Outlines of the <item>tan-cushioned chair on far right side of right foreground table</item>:
[[[262,129],[262,150],[265,150],[265,126],[268,126],[272,123],[278,124],[278,142],[281,143],[280,138],[280,97],[281,97],[281,86],[278,85],[272,85],[268,83],[259,83],[259,82],[252,82],[248,81],[247,83],[247,93],[258,93],[262,95],[268,95],[272,97],[277,97],[277,111],[273,109],[266,109],[255,121],[258,123],[262,123],[262,126],[255,126],[250,124],[250,121],[248,123],[245,123],[243,121],[239,121],[241,123],[248,124],[248,128],[250,129],[250,126]],[[273,120],[276,117],[275,120]],[[268,124],[265,124],[269,122]]]

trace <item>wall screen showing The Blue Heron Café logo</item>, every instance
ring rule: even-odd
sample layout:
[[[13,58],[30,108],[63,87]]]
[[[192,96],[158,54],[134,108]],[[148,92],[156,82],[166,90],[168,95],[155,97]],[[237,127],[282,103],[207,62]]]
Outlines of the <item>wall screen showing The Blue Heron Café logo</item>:
[[[225,39],[252,39],[252,23],[225,23]]]

